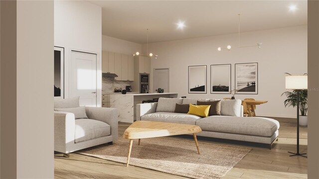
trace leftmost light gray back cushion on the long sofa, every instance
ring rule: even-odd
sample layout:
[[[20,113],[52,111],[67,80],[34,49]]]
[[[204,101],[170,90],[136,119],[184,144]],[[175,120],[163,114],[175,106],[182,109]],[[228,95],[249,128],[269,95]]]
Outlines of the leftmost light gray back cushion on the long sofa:
[[[182,98],[160,97],[158,106],[156,107],[156,112],[174,112],[176,103],[181,104],[182,101],[183,101]]]

